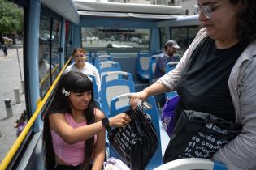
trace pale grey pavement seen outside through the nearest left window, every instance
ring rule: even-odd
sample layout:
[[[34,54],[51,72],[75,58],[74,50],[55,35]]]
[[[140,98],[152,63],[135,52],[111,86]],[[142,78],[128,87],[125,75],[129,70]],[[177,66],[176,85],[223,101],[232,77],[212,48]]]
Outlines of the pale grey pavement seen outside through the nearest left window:
[[[20,68],[15,48],[10,48],[5,57],[0,51],[0,162],[7,155],[7,151],[16,139],[16,131],[13,127],[15,121],[26,108],[24,93],[21,90],[20,69],[23,71],[23,49],[19,48]],[[24,79],[24,77],[23,77]],[[20,104],[16,104],[14,88],[20,88]],[[13,117],[7,117],[5,99],[11,99]]]

